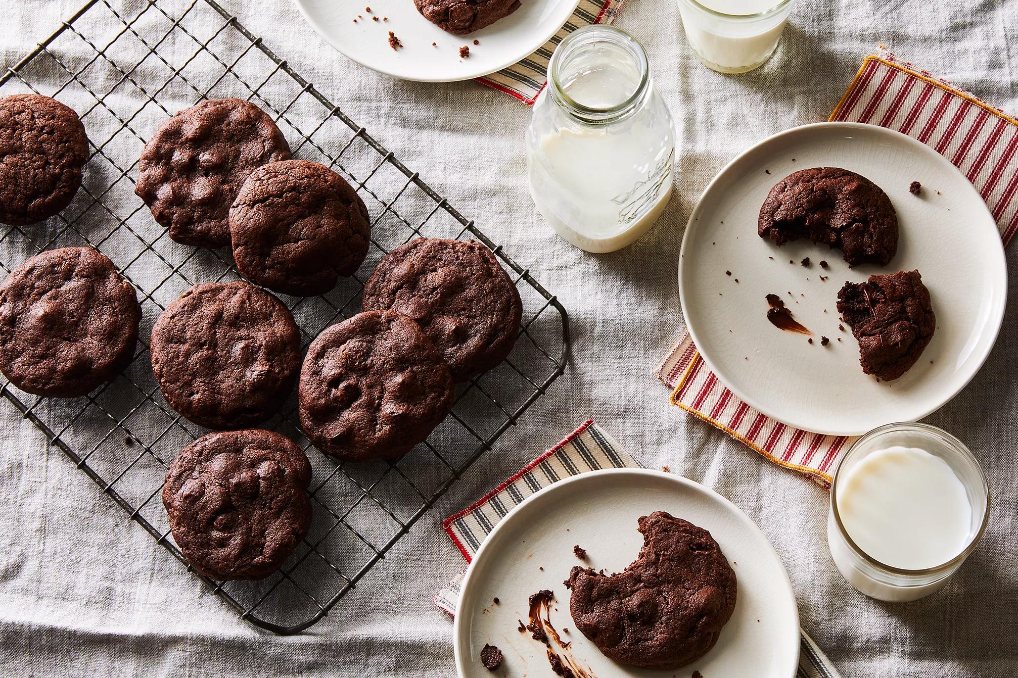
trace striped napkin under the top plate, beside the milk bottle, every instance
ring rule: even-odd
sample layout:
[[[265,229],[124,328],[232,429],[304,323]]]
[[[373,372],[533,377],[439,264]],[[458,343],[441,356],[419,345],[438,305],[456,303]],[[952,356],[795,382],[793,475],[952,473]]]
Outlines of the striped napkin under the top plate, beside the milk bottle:
[[[536,52],[508,68],[478,77],[477,81],[532,106],[538,95],[548,84],[548,62],[562,39],[584,25],[614,23],[624,2],[625,0],[579,0],[569,20]]]

